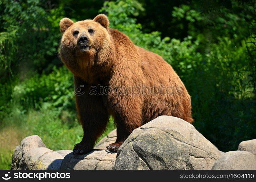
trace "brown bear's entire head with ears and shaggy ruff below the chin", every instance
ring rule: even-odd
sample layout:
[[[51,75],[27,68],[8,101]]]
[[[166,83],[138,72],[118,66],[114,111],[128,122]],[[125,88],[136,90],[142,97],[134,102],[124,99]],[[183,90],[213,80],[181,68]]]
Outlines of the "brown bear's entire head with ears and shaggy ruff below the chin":
[[[63,18],[60,20],[60,31],[63,33],[60,58],[74,75],[88,72],[90,65],[103,66],[103,62],[111,57],[113,43],[106,15],[100,14],[93,20],[76,23]]]

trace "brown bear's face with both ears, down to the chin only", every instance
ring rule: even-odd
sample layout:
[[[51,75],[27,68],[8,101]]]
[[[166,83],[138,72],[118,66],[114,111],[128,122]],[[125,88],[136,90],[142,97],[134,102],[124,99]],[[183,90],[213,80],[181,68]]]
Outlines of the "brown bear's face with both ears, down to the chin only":
[[[109,40],[108,17],[104,14],[93,20],[84,20],[74,23],[69,18],[60,20],[60,31],[63,33],[61,45],[66,45],[72,51],[89,52],[98,50]]]

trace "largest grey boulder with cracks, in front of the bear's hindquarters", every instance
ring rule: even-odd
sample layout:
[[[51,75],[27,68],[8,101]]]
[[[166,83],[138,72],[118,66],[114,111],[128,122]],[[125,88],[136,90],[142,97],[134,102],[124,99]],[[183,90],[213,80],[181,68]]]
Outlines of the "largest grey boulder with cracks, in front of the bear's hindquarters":
[[[132,132],[118,149],[114,169],[211,169],[220,156],[192,124],[159,116]]]

